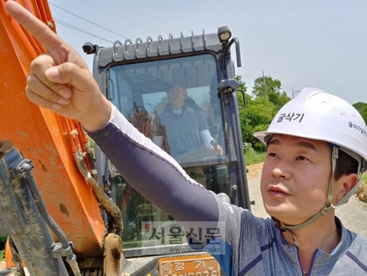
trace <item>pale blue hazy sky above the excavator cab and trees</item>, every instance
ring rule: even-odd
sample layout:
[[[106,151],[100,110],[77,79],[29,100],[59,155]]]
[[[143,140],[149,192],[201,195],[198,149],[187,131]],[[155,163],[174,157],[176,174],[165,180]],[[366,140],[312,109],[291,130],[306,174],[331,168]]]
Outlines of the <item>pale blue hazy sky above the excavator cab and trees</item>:
[[[254,79],[279,79],[292,97],[318,87],[355,104],[367,103],[367,0],[358,1],[64,1],[49,0],[57,33],[91,68],[86,41],[158,35],[178,38],[217,33],[228,26],[238,38],[242,67],[237,75],[252,91]],[[75,30],[77,28],[79,31]],[[232,48],[235,60],[235,48]],[[236,63],[236,62],[235,62]]]

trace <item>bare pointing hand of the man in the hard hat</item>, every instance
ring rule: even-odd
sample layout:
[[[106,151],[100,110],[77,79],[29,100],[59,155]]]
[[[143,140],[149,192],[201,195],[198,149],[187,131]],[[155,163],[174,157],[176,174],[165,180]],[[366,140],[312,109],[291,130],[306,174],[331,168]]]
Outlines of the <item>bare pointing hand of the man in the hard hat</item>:
[[[26,94],[38,106],[80,121],[88,131],[103,127],[111,103],[101,94],[81,56],[45,23],[15,1],[6,10],[47,50],[30,65]]]

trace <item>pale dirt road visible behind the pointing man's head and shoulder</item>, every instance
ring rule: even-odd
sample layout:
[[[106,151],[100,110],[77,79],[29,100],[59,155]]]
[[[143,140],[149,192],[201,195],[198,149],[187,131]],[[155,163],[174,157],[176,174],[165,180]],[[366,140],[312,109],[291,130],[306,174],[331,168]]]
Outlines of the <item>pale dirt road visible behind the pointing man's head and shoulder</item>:
[[[250,200],[255,202],[252,205],[252,212],[256,216],[268,217],[269,215],[266,214],[264,209],[259,189],[262,163],[247,167],[249,169],[247,178]],[[367,204],[365,202],[361,202],[358,197],[353,196],[347,204],[337,209],[336,214],[346,228],[367,237]]]

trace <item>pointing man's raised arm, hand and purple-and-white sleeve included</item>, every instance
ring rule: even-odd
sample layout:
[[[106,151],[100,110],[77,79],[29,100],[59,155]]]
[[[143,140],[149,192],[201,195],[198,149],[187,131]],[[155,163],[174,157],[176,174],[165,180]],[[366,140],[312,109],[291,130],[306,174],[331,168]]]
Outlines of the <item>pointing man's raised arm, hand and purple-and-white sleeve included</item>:
[[[23,6],[8,1],[6,9],[48,52],[30,66],[26,87],[30,101],[80,121],[123,177],[176,219],[218,219],[213,194],[191,180],[175,160],[111,106],[77,51]]]

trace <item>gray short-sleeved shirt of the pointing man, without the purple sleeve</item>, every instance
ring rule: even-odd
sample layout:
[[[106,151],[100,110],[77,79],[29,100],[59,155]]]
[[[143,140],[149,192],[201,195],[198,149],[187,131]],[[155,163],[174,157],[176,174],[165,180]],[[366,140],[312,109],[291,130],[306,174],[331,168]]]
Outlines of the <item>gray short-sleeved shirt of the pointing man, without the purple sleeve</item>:
[[[298,248],[288,245],[272,219],[217,199],[219,221],[225,221],[225,255],[215,255],[227,275],[303,275]],[[308,276],[367,275],[367,239],[353,233],[335,218],[341,241],[332,253],[317,249]]]

